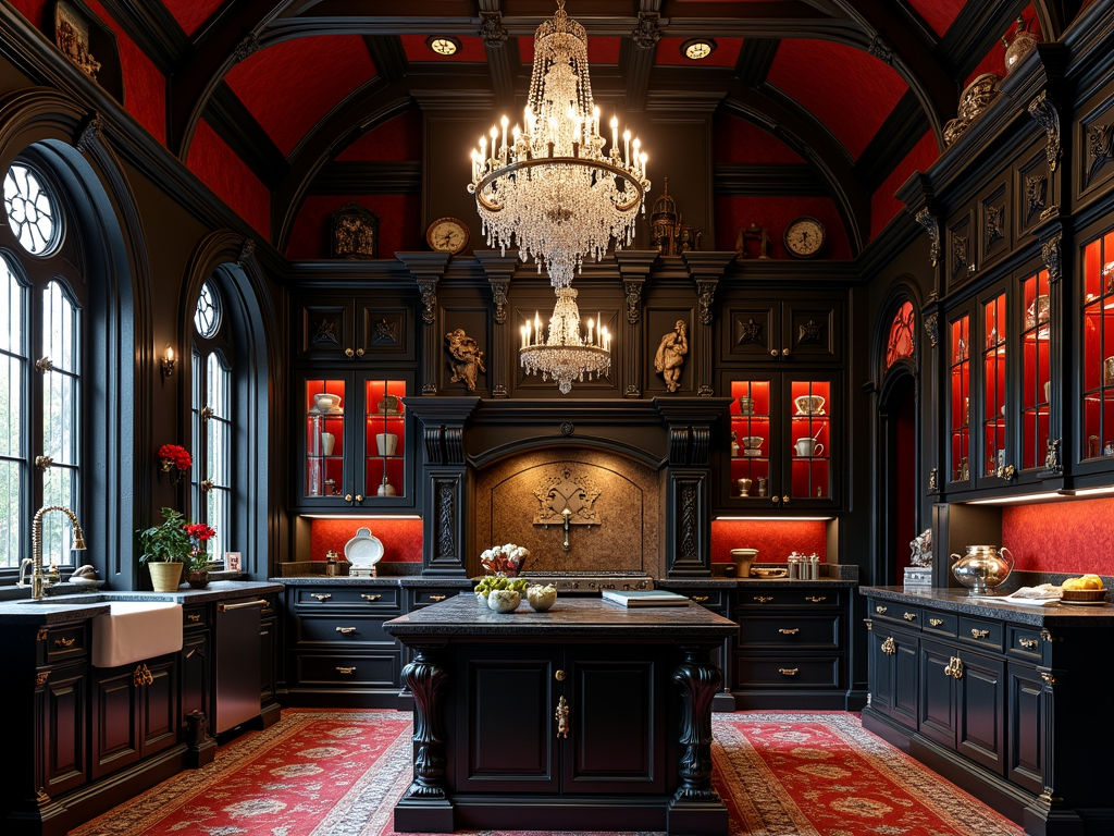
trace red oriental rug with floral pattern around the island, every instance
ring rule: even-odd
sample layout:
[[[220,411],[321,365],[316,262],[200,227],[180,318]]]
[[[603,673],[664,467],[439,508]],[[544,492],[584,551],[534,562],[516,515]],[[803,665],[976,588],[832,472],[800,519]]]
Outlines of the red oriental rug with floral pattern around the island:
[[[732,836],[1024,836],[858,715],[717,713],[713,730]],[[286,710],[70,836],[393,836],[410,757],[409,715]]]

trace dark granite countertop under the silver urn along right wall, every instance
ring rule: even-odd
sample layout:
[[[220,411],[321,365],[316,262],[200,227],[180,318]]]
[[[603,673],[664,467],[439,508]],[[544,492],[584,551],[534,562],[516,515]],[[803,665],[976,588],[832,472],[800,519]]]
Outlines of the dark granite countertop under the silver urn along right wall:
[[[934,606],[938,610],[965,615],[1005,619],[1015,624],[1032,626],[1076,626],[1079,624],[1114,626],[1114,605],[1108,603],[1106,606],[1073,606],[1061,603],[1046,606],[1007,604],[983,597],[973,599],[967,594],[967,590],[944,587],[913,591],[906,590],[903,586],[860,586],[859,593],[880,601]]]

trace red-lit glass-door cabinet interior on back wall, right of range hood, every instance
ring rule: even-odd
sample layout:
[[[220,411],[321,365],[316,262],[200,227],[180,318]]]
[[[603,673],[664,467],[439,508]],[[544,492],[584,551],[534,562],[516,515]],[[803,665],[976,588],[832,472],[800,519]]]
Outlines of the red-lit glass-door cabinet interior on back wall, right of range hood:
[[[832,378],[732,380],[729,496],[735,507],[831,507],[838,499]]]

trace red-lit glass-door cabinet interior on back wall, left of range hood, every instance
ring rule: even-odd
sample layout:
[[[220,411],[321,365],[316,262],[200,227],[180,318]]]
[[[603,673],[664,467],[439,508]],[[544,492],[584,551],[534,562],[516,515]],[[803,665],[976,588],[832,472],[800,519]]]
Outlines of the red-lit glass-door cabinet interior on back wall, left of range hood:
[[[301,505],[365,507],[410,496],[407,386],[356,375],[303,380]]]

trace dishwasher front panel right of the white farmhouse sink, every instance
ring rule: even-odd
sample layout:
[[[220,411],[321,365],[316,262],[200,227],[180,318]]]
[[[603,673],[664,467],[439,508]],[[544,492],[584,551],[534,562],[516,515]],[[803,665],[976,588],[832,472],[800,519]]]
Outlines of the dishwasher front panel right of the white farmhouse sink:
[[[214,733],[260,716],[260,612],[264,604],[234,601],[216,605]]]

